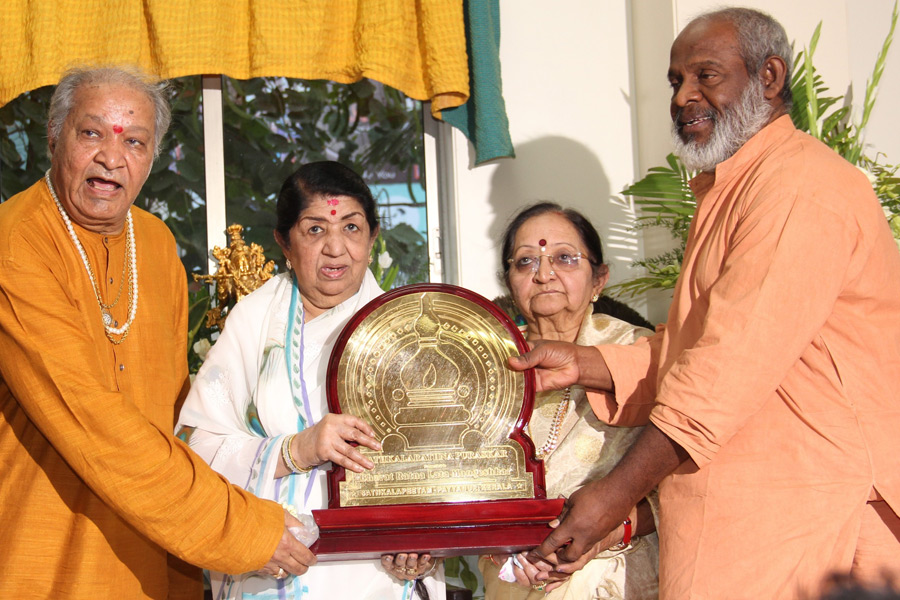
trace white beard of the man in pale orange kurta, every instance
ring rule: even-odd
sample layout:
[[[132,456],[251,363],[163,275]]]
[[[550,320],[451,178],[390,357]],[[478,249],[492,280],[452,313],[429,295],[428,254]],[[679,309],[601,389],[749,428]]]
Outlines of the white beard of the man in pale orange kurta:
[[[679,111],[680,114],[680,111]],[[672,139],[675,154],[689,171],[712,171],[720,162],[728,160],[747,140],[766,126],[772,115],[772,107],[763,95],[763,85],[750,81],[741,98],[733,106],[719,113],[709,109],[713,130],[709,140],[700,144],[692,139],[683,141],[678,135],[678,116],[672,121]]]

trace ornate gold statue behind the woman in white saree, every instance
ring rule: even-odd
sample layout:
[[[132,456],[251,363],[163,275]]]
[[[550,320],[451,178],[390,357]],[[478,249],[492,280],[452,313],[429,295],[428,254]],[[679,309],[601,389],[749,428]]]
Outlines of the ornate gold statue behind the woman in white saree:
[[[216,286],[216,306],[206,313],[206,326],[220,330],[228,316],[226,308],[272,278],[275,261],[266,261],[262,246],[244,242],[242,225],[235,223],[225,231],[231,238],[227,248],[215,246],[213,258],[219,268],[212,275],[194,275],[194,281],[213,282]]]

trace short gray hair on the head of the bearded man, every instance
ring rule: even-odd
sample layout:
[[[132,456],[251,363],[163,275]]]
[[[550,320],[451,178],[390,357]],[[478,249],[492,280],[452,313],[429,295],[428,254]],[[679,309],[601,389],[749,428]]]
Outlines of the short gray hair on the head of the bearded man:
[[[758,75],[759,70],[770,56],[777,56],[784,61],[787,70],[784,74],[781,99],[785,108],[790,110],[794,103],[794,96],[791,93],[791,71],[794,66],[793,48],[781,23],[770,15],[751,8],[713,10],[700,15],[692,23],[718,20],[730,23],[734,27],[741,58],[744,60],[748,74]]]

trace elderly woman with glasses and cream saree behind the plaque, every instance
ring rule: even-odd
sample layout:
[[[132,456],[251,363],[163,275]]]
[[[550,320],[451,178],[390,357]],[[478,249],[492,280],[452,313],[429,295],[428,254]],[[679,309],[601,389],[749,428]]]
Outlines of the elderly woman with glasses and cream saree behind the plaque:
[[[652,332],[604,314],[592,314],[609,269],[600,236],[580,213],[542,202],[520,211],[503,238],[503,279],[525,319],[529,341],[562,340],[583,345],[631,344]],[[541,392],[535,398],[529,435],[544,460],[548,497],[568,496],[602,477],[619,461],[640,428],[611,427],[594,416],[584,389]],[[655,501],[655,500],[654,500]],[[486,600],[650,599],[657,592],[656,526],[650,501],[600,541],[570,577],[546,572],[525,554],[487,555],[479,560]]]

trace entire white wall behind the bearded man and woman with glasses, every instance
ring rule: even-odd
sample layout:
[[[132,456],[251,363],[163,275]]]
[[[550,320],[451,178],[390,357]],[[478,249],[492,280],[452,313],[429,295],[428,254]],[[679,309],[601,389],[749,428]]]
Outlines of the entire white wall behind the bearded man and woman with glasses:
[[[865,80],[887,34],[892,0],[749,0],[785,26],[795,48],[821,20],[815,64],[836,94],[852,86],[862,102]],[[628,231],[631,205],[618,192],[670,151],[665,79],[677,32],[707,0],[501,0],[503,93],[515,159],[473,166],[465,138],[452,134],[450,188],[456,201],[456,272],[445,281],[488,298],[503,293],[496,278],[499,242],[509,217],[535,200],[584,212],[603,237],[611,282],[635,276],[630,262],[670,242],[662,232]],[[900,38],[900,34],[898,34]],[[897,41],[900,46],[900,40]],[[888,57],[869,126],[874,150],[900,162],[900,50]],[[658,322],[662,295],[629,303]]]

